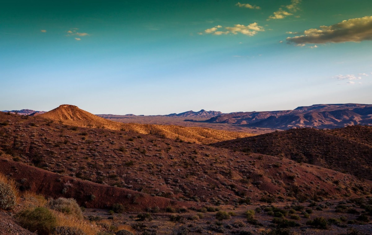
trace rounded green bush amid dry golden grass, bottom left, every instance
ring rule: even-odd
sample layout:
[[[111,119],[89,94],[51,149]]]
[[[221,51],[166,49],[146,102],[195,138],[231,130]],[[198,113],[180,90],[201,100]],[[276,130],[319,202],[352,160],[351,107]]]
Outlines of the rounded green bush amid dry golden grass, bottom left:
[[[25,229],[36,232],[39,235],[49,235],[55,228],[56,218],[46,207],[36,207],[35,209],[26,209],[17,214],[17,219]]]

